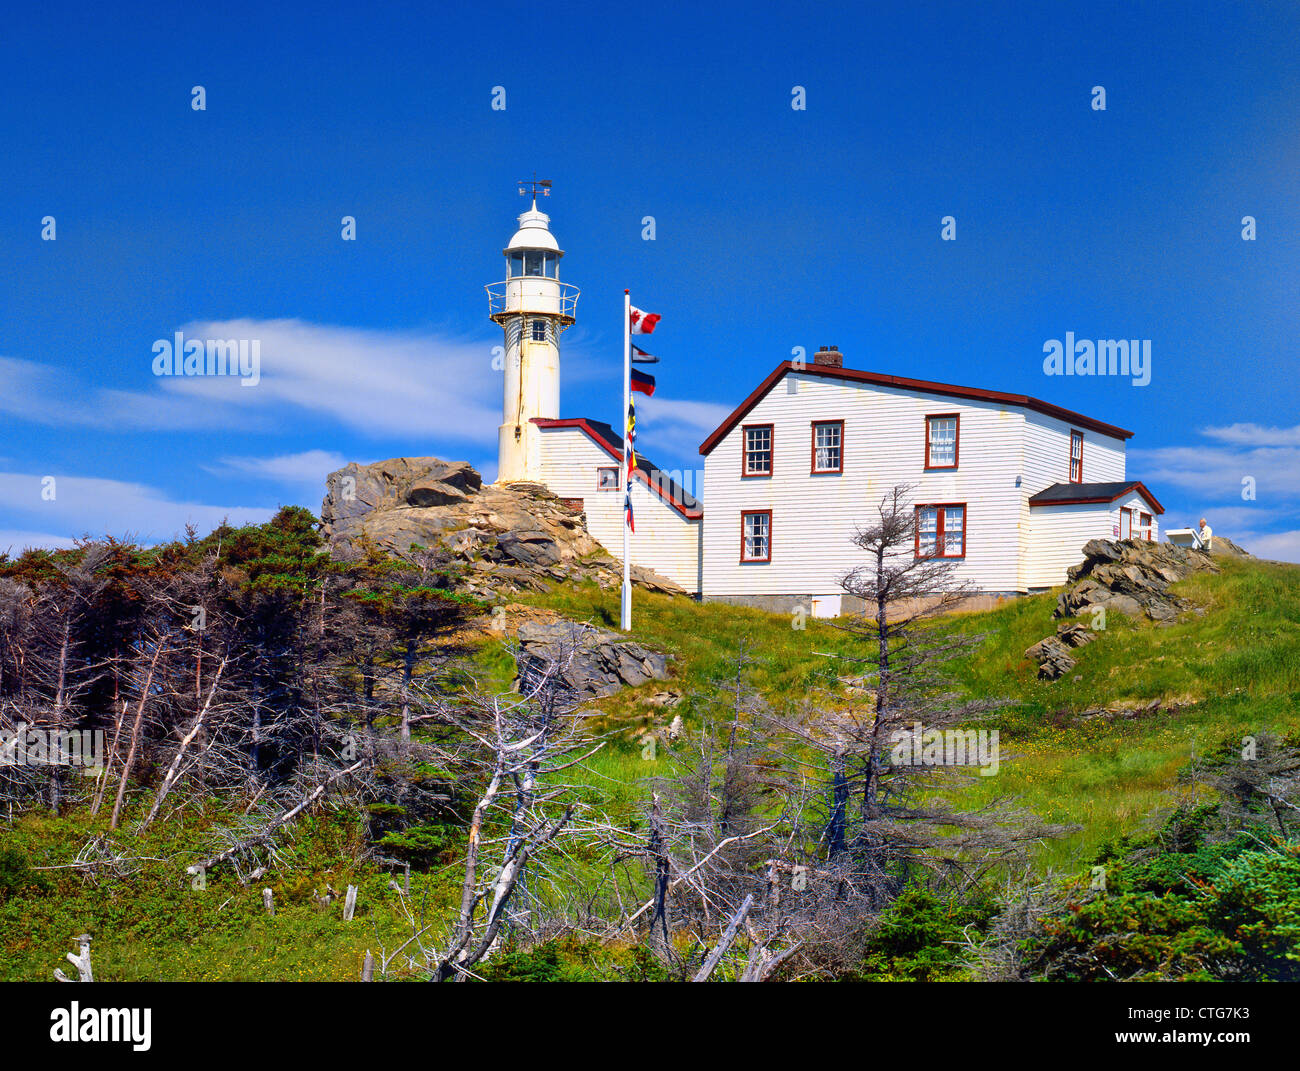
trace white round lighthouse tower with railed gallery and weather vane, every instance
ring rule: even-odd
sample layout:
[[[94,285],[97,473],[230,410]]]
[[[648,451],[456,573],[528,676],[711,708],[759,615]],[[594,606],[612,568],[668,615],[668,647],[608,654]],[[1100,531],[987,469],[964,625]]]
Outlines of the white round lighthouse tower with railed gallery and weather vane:
[[[506,331],[506,382],[498,429],[497,481],[541,478],[541,430],[534,416],[560,415],[560,333],[573,322],[577,287],[560,282],[560,250],[550,216],[533,204],[506,246],[506,279],[488,286],[490,316]],[[520,191],[523,192],[523,190]]]

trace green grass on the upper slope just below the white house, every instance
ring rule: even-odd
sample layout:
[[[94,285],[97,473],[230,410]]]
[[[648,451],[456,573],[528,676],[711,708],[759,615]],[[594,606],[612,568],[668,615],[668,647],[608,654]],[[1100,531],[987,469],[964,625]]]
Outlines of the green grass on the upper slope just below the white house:
[[[1225,740],[1262,730],[1300,728],[1300,567],[1218,559],[1222,574],[1196,574],[1174,591],[1202,610],[1166,626],[1112,613],[1105,632],[1075,654],[1078,667],[1060,681],[1039,681],[1024,650],[1056,630],[1057,593],[1013,599],[978,613],[954,615],[948,626],[980,636],[972,654],[953,664],[972,697],[1009,701],[988,723],[1004,755],[994,777],[978,779],[956,798],[971,805],[1014,797],[1043,819],[1082,827],[1043,845],[1040,866],[1082,866],[1096,849],[1134,832],[1175,802],[1178,775],[1195,754]],[[618,621],[618,593],[594,585],[534,595],[540,606],[606,628]],[[1091,620],[1084,617],[1086,621]],[[810,702],[840,702],[838,675],[858,643],[831,623],[792,626],[789,615],[720,603],[637,593],[637,639],[673,656],[671,686],[688,697],[732,672],[744,642],[759,659],[753,684],[777,710]],[[627,689],[599,703],[610,724],[633,736],[663,711],[647,707],[655,682]],[[1095,708],[1135,708],[1152,699],[1162,710],[1136,720],[1078,715]],[[686,702],[688,724],[698,704]],[[636,775],[640,754],[621,767]]]

